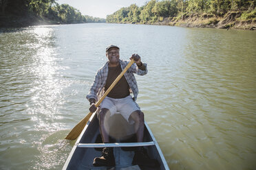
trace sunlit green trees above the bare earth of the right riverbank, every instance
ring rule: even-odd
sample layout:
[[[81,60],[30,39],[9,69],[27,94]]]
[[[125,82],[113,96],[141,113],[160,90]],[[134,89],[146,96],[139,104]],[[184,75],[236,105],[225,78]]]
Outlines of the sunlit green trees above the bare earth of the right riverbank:
[[[151,0],[138,7],[132,4],[107,16],[107,23],[156,23],[164,18],[182,19],[191,14],[224,16],[241,11],[242,19],[256,18],[255,0]]]

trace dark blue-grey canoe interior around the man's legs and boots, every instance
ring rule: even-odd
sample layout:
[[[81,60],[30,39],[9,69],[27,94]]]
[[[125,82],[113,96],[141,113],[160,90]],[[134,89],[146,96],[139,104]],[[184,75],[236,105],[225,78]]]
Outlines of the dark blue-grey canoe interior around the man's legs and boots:
[[[109,130],[118,131],[121,130],[122,127],[126,126],[125,131],[123,131],[123,134],[121,134],[121,138],[118,138],[116,134],[114,134],[115,138],[111,138],[111,143],[135,143],[136,142],[136,135],[135,134],[129,134],[131,132],[127,132],[127,129],[132,127],[131,125],[128,125],[125,119],[122,118],[122,116],[115,116],[111,117],[112,120],[118,123],[114,123],[111,127],[109,127]],[[113,120],[114,119],[114,120]],[[63,167],[63,169],[111,169],[109,167],[94,167],[92,165],[92,162],[96,156],[101,156],[101,150],[102,148],[93,148],[93,147],[77,147],[79,143],[102,143],[100,138],[100,132],[98,128],[98,119],[96,117],[96,114],[92,115],[91,121],[87,123],[87,126],[83,130],[81,136],[78,137],[78,140],[76,141],[76,144],[74,145],[69,158],[67,158],[67,161]],[[111,134],[111,133],[110,133]],[[151,137],[149,130],[147,129],[147,125],[145,126],[145,134],[143,142],[149,142],[154,141],[155,139]],[[162,162],[162,157],[160,156],[160,153],[158,151],[158,148],[156,145],[151,146],[145,146],[147,149],[147,152],[150,156],[150,158],[154,158],[158,160],[160,163],[159,168],[153,168],[153,169],[166,169],[166,162],[164,167],[164,162]],[[135,147],[114,147],[114,156],[116,159],[116,167],[112,169],[125,169],[127,167],[132,167],[131,164],[132,159],[134,158],[134,149]],[[161,152],[161,151],[160,151]],[[161,152],[162,154],[162,152]],[[140,169],[152,169],[149,167],[140,167]]]

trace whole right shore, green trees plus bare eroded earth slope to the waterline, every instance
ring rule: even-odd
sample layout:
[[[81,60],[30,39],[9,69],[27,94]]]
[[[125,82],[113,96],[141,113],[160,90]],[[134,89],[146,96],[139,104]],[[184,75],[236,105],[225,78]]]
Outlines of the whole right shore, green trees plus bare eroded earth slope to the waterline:
[[[256,30],[255,0],[151,0],[107,16],[107,23]]]

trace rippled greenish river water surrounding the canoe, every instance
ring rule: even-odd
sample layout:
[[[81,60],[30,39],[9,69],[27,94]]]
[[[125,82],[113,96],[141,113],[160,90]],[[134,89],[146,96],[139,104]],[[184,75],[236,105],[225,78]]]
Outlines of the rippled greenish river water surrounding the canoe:
[[[111,44],[170,169],[255,169],[256,32],[106,23],[1,30],[0,169],[63,167]]]

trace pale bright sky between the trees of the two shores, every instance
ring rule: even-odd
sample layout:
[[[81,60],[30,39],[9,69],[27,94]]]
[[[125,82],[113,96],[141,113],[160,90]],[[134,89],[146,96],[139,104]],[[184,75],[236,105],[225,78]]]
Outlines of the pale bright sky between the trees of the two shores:
[[[59,4],[67,3],[78,9],[83,15],[106,19],[108,14],[113,14],[122,7],[136,3],[139,7],[149,0],[57,0]]]

